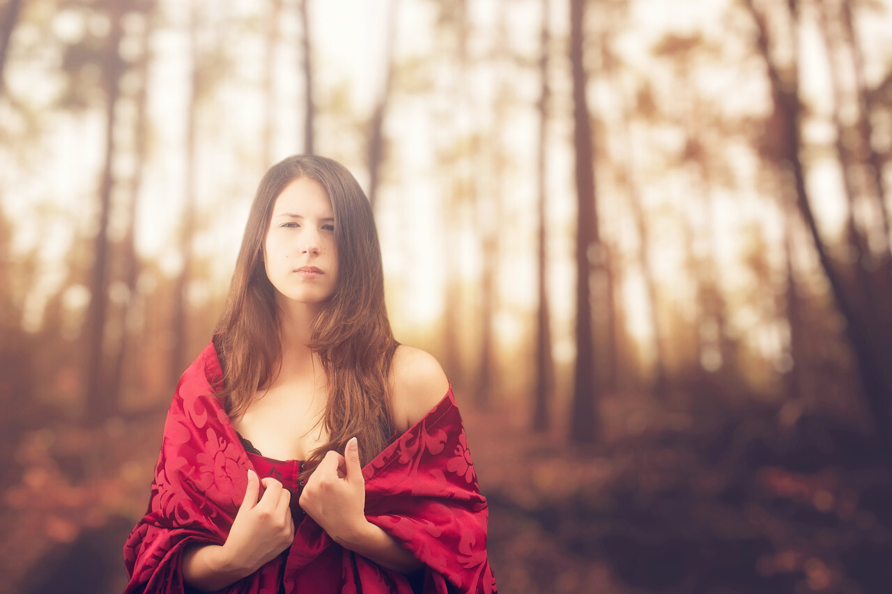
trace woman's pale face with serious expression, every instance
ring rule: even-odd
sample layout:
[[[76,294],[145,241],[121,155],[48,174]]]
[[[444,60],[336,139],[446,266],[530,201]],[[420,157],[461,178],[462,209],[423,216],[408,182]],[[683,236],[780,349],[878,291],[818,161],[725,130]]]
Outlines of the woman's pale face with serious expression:
[[[263,240],[263,264],[280,306],[318,305],[335,291],[335,213],[317,181],[300,177],[278,195]]]

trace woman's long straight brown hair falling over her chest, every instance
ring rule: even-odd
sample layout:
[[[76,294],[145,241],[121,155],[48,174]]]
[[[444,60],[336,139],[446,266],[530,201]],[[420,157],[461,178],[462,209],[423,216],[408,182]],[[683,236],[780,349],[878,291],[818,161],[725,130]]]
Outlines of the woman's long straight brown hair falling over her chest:
[[[301,177],[318,182],[328,194],[338,258],[335,291],[314,319],[310,342],[326,374],[328,400],[321,422],[328,441],[310,453],[307,466],[315,468],[327,450],[343,452],[353,436],[366,464],[392,438],[387,376],[398,343],[384,306],[381,247],[371,206],[350,171],[337,161],[296,155],[274,165],[260,180],[214,337],[223,367],[219,394],[229,417],[238,417],[254,393],[272,384],[278,373],[282,317],[263,265],[263,241],[278,195]]]

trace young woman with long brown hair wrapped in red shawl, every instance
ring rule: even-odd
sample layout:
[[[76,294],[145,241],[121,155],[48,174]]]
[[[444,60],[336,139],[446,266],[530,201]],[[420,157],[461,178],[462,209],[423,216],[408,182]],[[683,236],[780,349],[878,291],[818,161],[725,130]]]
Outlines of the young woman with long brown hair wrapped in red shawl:
[[[487,516],[442,368],[393,338],[359,184],[278,163],[171,403],[126,592],[495,592]]]

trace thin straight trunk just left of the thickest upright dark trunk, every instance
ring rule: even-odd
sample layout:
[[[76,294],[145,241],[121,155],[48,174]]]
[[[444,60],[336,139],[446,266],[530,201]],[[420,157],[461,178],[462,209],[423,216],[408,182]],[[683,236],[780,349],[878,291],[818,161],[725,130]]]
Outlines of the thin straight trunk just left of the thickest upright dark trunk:
[[[551,425],[550,400],[554,363],[551,358],[551,326],[549,315],[548,267],[546,245],[548,225],[546,186],[548,169],[546,163],[549,141],[549,45],[551,45],[549,23],[549,0],[541,2],[541,29],[539,31],[539,131],[536,146],[536,218],[539,229],[536,237],[536,280],[539,302],[536,308],[536,378],[533,388],[533,429],[547,431]]]

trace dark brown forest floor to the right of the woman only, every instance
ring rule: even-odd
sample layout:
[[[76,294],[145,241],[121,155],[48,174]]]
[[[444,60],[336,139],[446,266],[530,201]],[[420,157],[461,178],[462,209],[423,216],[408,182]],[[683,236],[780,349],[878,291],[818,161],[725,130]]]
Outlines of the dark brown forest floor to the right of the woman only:
[[[892,482],[868,441],[795,407],[694,404],[608,399],[587,447],[467,418],[500,590],[892,591]]]

